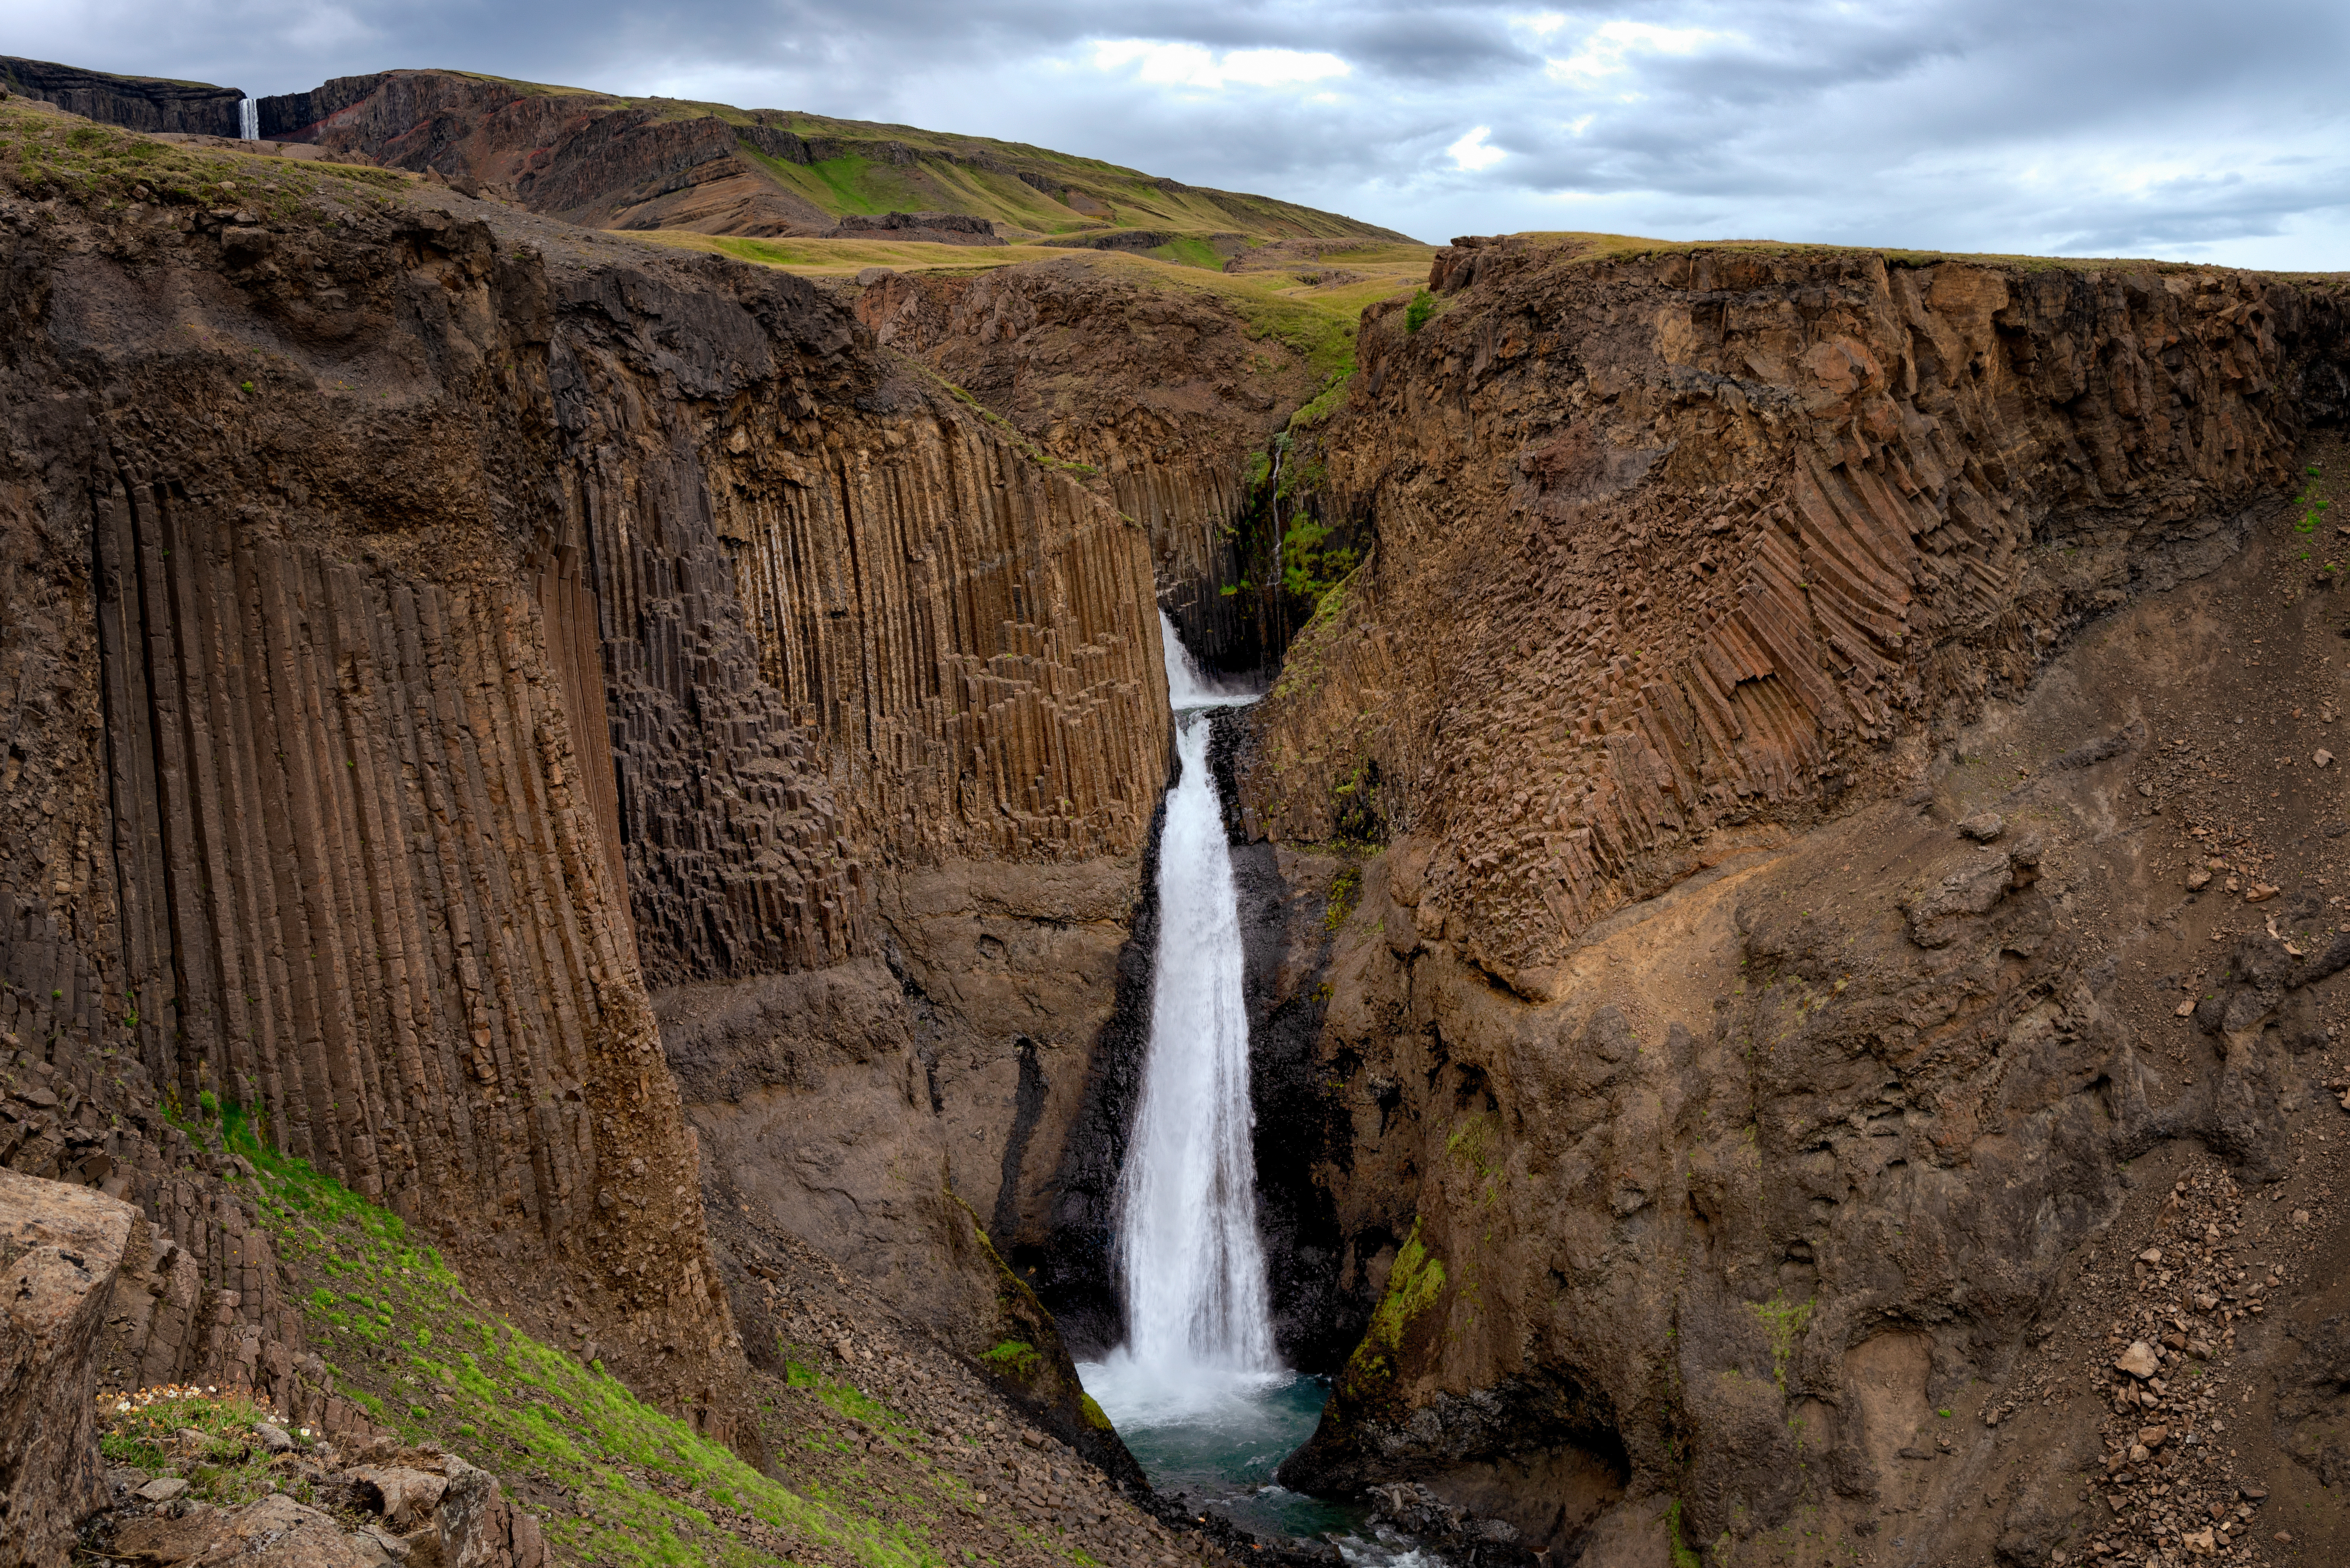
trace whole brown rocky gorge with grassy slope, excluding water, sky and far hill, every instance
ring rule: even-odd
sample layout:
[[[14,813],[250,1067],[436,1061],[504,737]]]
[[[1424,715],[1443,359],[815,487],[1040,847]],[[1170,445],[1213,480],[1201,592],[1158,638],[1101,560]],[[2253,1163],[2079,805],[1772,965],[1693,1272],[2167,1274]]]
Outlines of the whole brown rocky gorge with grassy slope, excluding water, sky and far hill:
[[[298,162],[0,103],[0,1561],[1330,1561],[1076,1373],[1161,606],[1269,685],[1283,1486],[1459,1563],[2350,1540],[2341,279],[1469,237],[1325,371],[320,92]],[[334,162],[392,120],[439,183]]]

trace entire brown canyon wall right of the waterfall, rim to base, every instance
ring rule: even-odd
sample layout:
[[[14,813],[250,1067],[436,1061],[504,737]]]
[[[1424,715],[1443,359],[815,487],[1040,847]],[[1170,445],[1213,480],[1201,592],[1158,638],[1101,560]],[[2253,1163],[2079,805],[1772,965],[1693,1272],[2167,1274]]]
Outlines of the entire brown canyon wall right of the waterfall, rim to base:
[[[1417,331],[1365,317],[1318,455],[1377,545],[1238,763],[1337,932],[1290,1000],[1365,1324],[1283,1479],[1549,1561],[2077,1552],[2127,1343],[2082,1303],[2153,1289],[2096,1265],[2150,1218],[2127,1162],[2289,1176],[2329,1066],[2317,960],[2164,1035],[2214,944],[2329,941],[2334,568],[2284,498],[2343,408],[2338,291],[1539,239],[1431,282]],[[2263,634],[2326,674],[2221,657]],[[2195,772],[2249,772],[2242,817],[2162,817],[2157,761],[2244,714],[2265,753]],[[2247,833],[2282,934],[2181,901]],[[1297,911],[1267,941],[1311,955]],[[2016,1446],[2021,1387],[2089,1399]],[[1936,1446],[1960,1404],[1981,1439]]]

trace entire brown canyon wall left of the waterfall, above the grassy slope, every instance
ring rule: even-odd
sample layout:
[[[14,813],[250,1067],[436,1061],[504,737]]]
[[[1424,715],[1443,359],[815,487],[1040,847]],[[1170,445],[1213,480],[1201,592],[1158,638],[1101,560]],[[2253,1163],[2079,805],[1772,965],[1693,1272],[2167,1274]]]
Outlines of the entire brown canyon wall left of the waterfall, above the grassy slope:
[[[750,1441],[700,1202],[740,1162],[1086,1427],[980,1225],[1112,1009],[1144,533],[799,279],[268,178],[7,197],[5,1160],[146,1214],[106,1371],[331,1408],[183,1131],[226,1120]]]

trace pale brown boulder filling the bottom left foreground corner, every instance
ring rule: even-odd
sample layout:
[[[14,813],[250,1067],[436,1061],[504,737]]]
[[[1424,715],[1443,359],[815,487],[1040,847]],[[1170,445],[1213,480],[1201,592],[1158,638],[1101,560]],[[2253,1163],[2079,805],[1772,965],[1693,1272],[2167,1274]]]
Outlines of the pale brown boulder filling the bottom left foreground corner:
[[[99,1331],[136,1211],[0,1169],[0,1566],[63,1561],[101,1495]]]

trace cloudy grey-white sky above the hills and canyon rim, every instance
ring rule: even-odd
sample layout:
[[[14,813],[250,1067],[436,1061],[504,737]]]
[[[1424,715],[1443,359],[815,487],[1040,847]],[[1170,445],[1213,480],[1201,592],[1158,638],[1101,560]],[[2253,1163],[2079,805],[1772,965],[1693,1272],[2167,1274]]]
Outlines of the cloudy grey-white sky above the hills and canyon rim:
[[[0,0],[275,94],[456,66],[1032,141],[1405,230],[2350,270],[2343,0]]]

